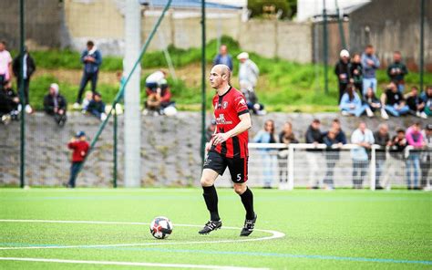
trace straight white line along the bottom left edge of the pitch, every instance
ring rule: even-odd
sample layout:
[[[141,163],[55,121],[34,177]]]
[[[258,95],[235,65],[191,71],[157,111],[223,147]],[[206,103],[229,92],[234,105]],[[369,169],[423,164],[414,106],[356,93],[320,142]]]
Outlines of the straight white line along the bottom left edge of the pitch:
[[[154,264],[154,263],[135,263],[135,262],[111,262],[111,261],[81,261],[81,260],[62,260],[62,259],[41,259],[41,258],[14,258],[0,257],[0,261],[24,261],[39,263],[57,263],[57,264],[86,264],[86,265],[128,265],[128,266],[149,266],[149,267],[175,267],[175,268],[196,268],[196,269],[268,269],[252,267],[235,267],[221,265],[181,265],[181,264]]]

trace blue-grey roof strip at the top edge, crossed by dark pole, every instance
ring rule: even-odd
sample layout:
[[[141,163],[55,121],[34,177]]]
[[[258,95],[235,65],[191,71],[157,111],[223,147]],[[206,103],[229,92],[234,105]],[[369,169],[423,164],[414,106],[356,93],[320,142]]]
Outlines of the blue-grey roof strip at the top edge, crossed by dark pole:
[[[153,7],[164,7],[167,5],[168,0],[139,0],[139,4],[141,5],[150,5]],[[215,9],[242,9],[242,6],[239,5],[225,5],[220,3],[206,2],[206,8],[215,8]],[[201,8],[200,0],[172,0],[171,7],[173,8],[185,8],[185,9],[196,9]]]

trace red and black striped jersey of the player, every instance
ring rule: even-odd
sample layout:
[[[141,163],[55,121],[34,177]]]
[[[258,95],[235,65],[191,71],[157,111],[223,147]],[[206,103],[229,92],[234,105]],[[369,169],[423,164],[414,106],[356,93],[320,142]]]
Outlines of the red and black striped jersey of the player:
[[[239,116],[249,113],[242,92],[232,87],[221,96],[216,94],[212,104],[218,133],[225,133],[234,129],[240,123]],[[248,130],[245,130],[218,145],[213,145],[211,150],[217,151],[227,158],[246,158],[248,156],[248,140]]]

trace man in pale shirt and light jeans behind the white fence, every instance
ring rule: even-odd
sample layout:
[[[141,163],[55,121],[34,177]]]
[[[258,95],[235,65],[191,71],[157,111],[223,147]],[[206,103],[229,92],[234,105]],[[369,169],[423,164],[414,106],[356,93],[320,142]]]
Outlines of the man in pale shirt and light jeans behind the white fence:
[[[368,167],[368,154],[372,144],[375,143],[374,134],[366,129],[365,122],[360,122],[358,129],[351,135],[351,143],[358,145],[351,151],[353,158],[353,185],[355,189],[361,189]]]

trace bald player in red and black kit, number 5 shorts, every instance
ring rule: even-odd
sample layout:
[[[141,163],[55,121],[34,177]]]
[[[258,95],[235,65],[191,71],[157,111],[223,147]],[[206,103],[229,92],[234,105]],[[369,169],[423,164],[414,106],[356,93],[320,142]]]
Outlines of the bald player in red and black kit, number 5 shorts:
[[[221,228],[218,212],[218,194],[214,182],[228,167],[234,192],[240,195],[246,219],[241,236],[252,234],[256,222],[253,212],[253,194],[246,185],[248,180],[248,130],[251,116],[242,93],[230,85],[231,70],[225,65],[211,68],[210,84],[216,89],[212,104],[216,119],[216,130],[207,146],[209,152],[203,165],[201,186],[204,201],[211,219],[199,234],[209,234]]]

